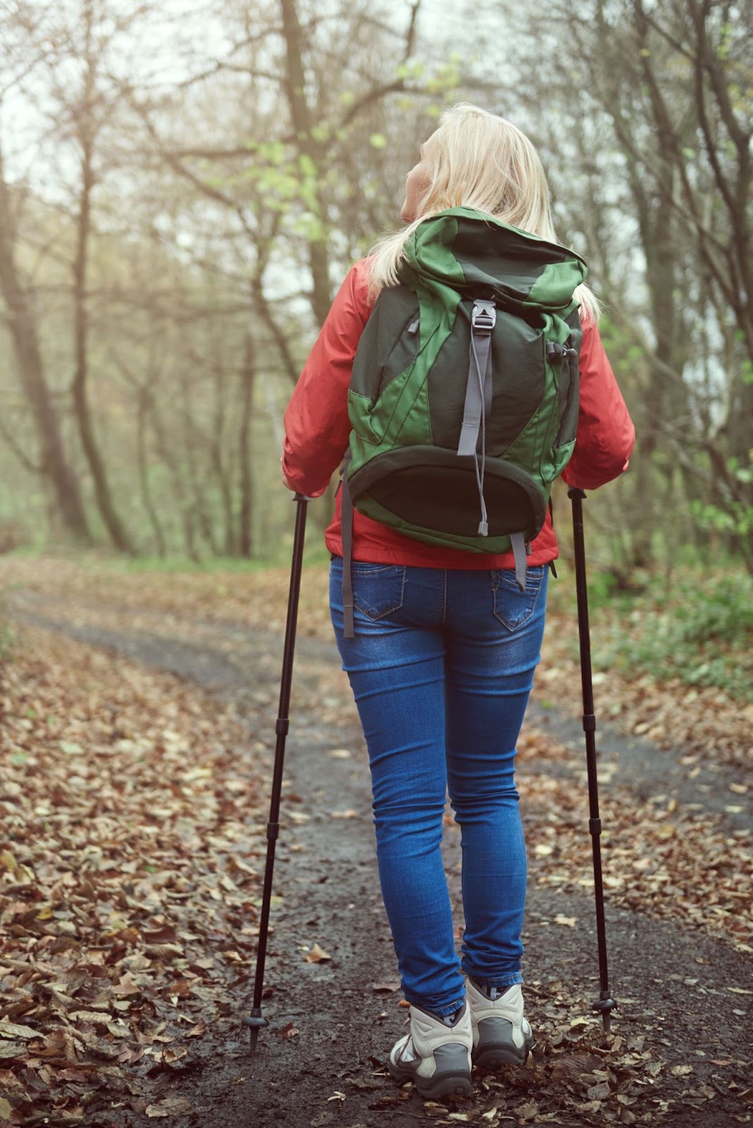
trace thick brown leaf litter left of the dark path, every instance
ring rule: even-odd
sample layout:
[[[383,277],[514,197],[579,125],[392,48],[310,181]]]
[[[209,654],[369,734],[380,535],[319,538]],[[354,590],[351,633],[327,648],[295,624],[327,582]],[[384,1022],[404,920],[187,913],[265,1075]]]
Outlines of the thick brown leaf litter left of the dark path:
[[[248,734],[195,687],[44,632],[24,631],[1,678],[5,1119],[76,1122],[114,1098],[187,1114],[148,1100],[149,1074],[188,1067],[248,978]]]

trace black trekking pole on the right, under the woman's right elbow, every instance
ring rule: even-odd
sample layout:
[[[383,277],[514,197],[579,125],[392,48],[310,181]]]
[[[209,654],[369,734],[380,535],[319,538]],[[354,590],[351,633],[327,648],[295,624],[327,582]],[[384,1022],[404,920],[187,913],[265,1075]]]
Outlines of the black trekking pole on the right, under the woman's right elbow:
[[[606,923],[604,919],[604,883],[601,870],[601,819],[599,817],[599,781],[596,778],[596,717],[591,677],[591,635],[588,632],[588,591],[586,588],[586,549],[583,538],[583,490],[567,491],[573,502],[573,537],[575,543],[575,589],[578,600],[578,638],[581,644],[581,681],[583,682],[583,731],[586,738],[586,766],[588,769],[588,832],[594,860],[594,897],[596,899],[596,937],[599,941],[599,998],[592,1010],[601,1013],[605,1033],[609,1033],[611,1012],[617,1006],[609,989],[606,968]]]

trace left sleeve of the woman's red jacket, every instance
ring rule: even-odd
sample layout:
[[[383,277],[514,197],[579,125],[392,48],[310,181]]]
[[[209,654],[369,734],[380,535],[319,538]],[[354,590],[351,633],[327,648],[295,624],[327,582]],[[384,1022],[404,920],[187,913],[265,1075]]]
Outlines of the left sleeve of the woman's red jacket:
[[[291,488],[310,497],[325,492],[343,461],[351,369],[371,308],[362,259],[345,276],[285,411],[283,474]]]

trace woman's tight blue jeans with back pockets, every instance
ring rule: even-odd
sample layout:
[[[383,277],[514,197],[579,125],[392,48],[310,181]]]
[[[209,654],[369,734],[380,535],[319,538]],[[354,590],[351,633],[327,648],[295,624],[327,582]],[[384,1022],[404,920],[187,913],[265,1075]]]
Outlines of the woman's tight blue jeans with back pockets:
[[[337,645],[363,725],[384,907],[409,1003],[451,1014],[462,970],[523,981],[525,843],[515,743],[540,659],[548,569],[453,571],[353,562],[355,638]],[[466,929],[455,954],[440,845],[446,793],[461,828]]]

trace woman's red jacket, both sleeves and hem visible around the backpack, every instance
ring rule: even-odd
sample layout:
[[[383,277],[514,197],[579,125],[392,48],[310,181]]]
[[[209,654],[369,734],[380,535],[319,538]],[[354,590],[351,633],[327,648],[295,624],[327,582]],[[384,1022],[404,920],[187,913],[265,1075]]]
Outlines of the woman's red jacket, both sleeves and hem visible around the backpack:
[[[371,314],[369,261],[348,272],[321,333],[311,350],[285,412],[283,474],[292,488],[317,497],[343,461],[351,423],[347,389],[358,338]],[[564,479],[582,490],[595,490],[628,468],[635,429],[614,373],[592,319],[583,326],[581,346],[581,411],[575,452]],[[325,540],[330,553],[343,555],[340,499]],[[548,564],[557,556],[550,514],[531,545],[529,565]],[[353,558],[373,564],[414,564],[418,567],[507,569],[512,553],[468,553],[422,544],[358,513],[353,521]]]

